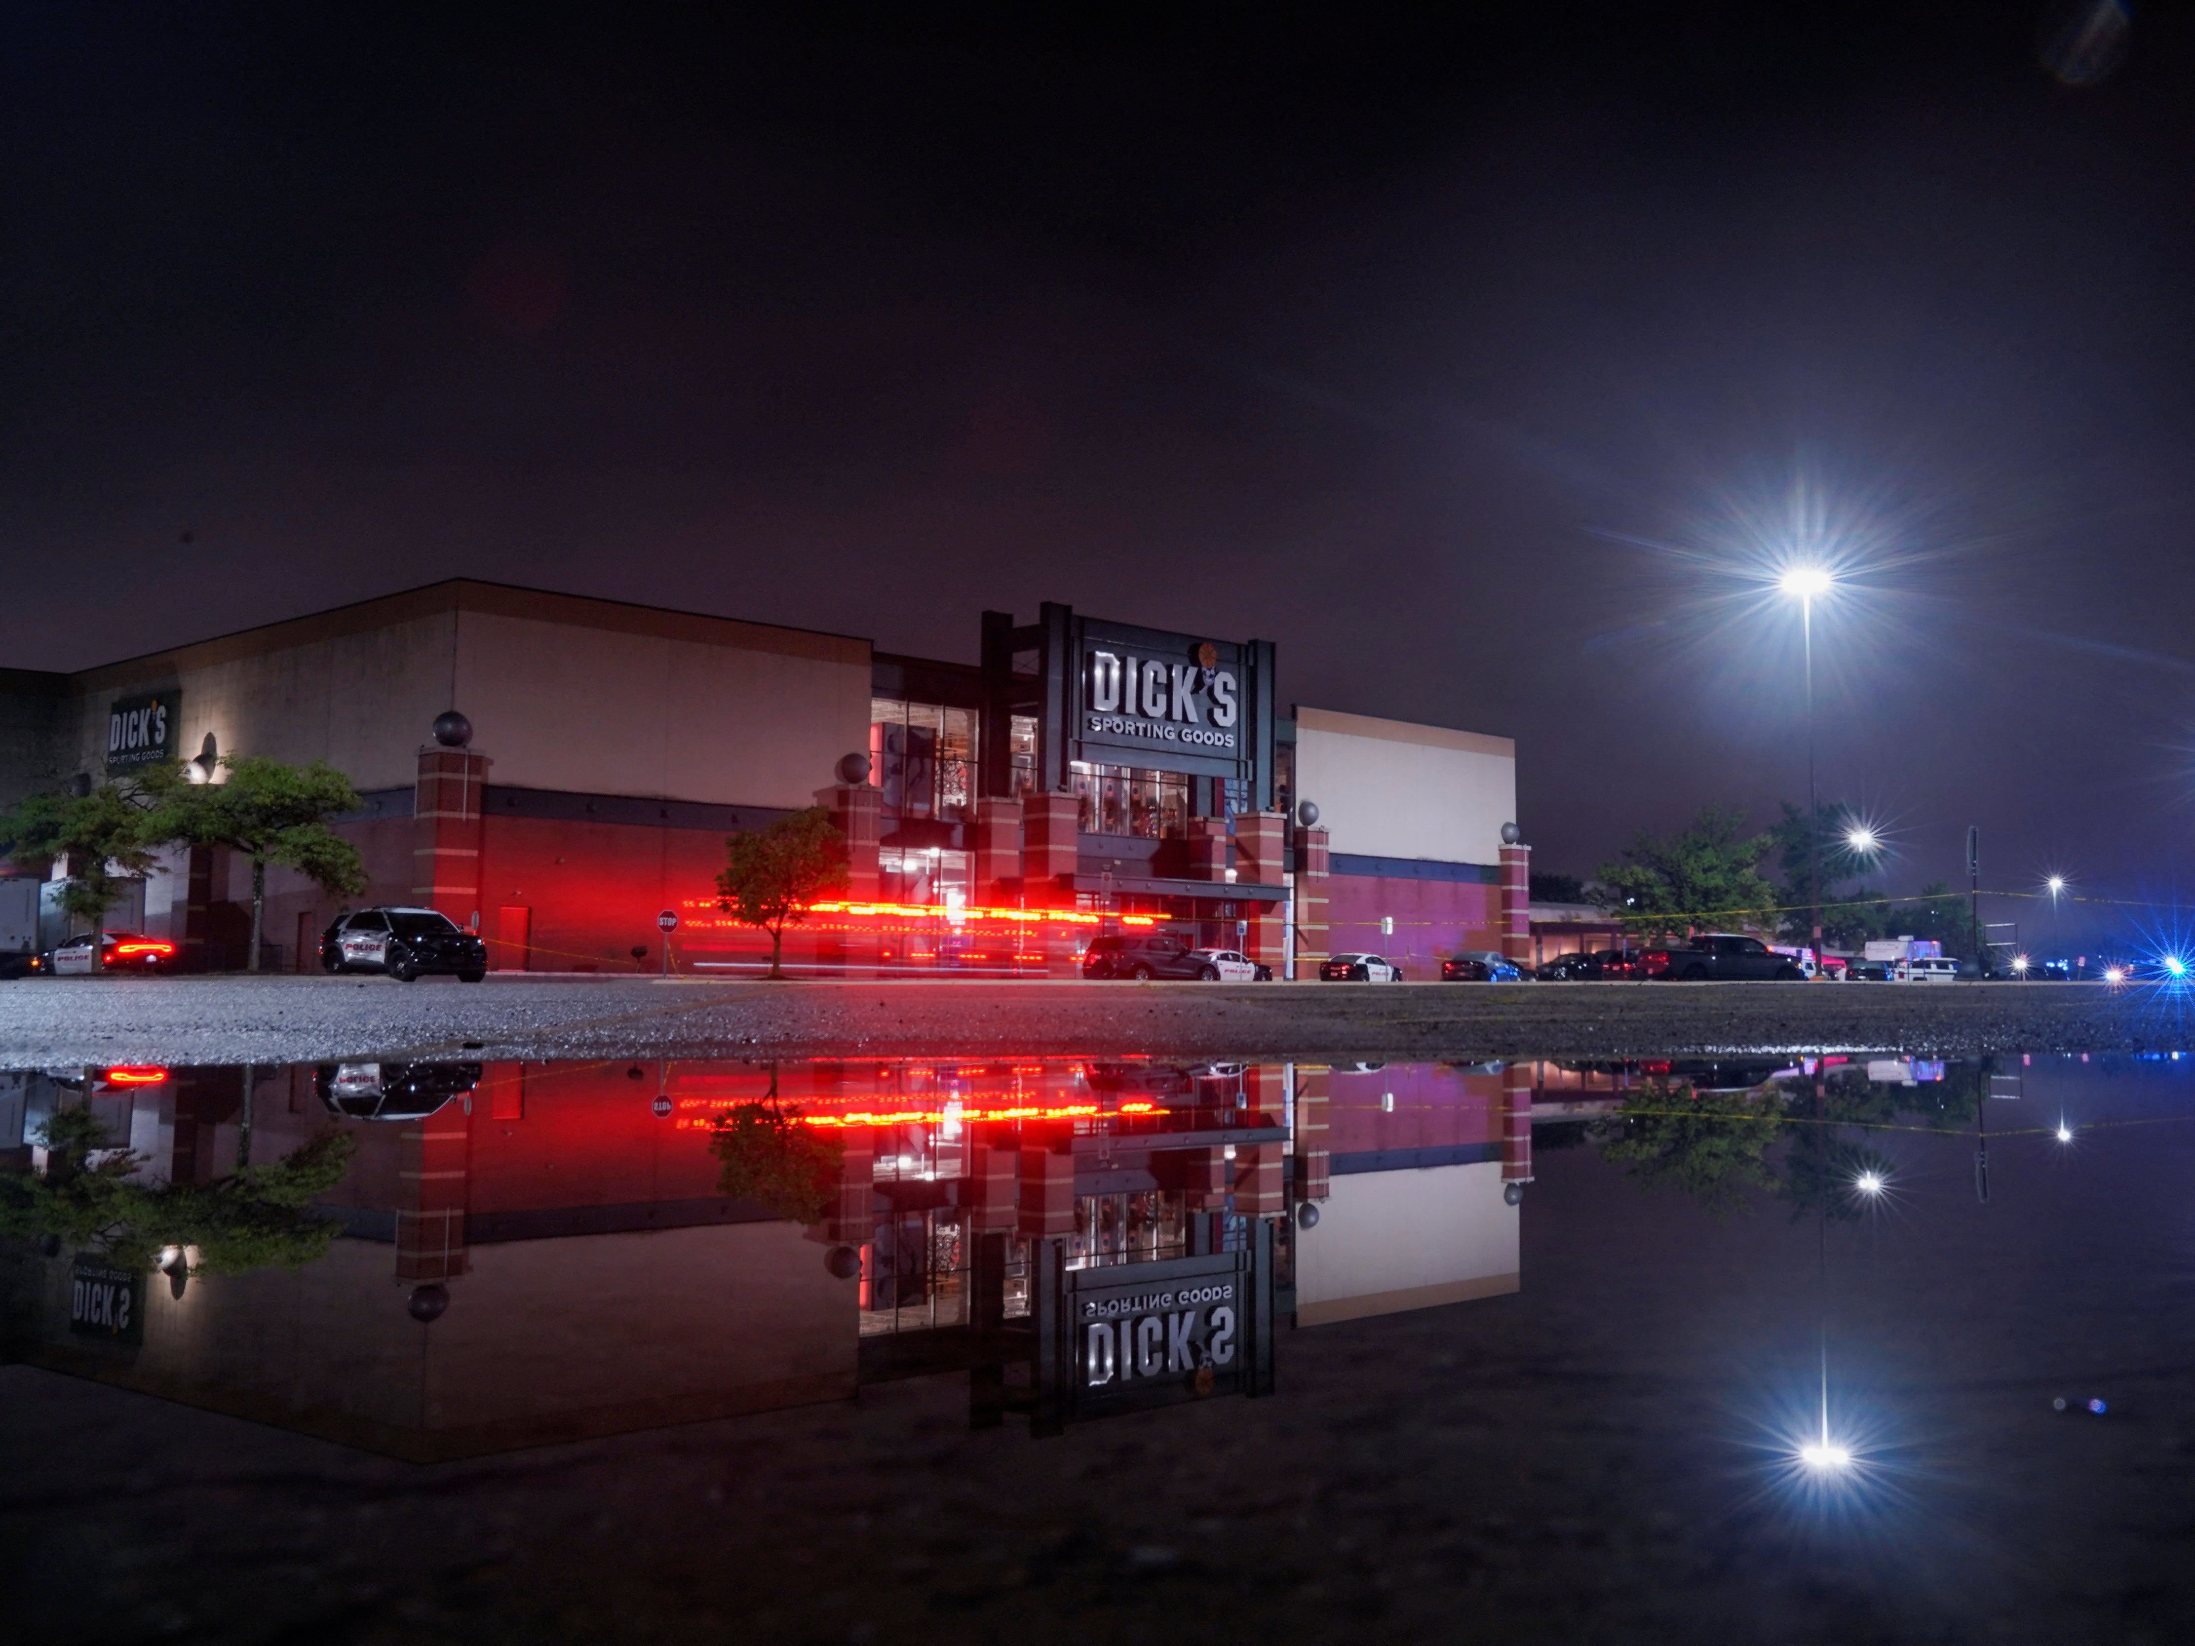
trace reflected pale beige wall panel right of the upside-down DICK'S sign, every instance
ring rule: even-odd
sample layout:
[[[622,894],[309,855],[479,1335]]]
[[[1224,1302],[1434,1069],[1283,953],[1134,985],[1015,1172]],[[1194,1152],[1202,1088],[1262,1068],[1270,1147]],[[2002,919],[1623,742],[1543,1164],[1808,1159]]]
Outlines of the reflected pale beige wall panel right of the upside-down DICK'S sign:
[[[1295,1231],[1295,1323],[1517,1290],[1517,1211],[1501,1161],[1337,1174],[1319,1227]]]

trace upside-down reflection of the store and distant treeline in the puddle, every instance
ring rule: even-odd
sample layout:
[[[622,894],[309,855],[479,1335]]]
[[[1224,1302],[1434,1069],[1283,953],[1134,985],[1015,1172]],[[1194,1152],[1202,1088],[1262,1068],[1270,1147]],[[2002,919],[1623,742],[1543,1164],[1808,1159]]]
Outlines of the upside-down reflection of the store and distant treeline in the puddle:
[[[24,1071],[0,1075],[0,1216],[26,1358],[404,1457],[942,1369],[970,1374],[975,1422],[1023,1411],[1047,1433],[1115,1396],[1262,1394],[1275,1358],[1286,1376],[1273,1326],[1517,1293],[1534,1128],[1543,1150],[1596,1146],[1719,1218],[1769,1196],[1826,1227],[1894,1207],[1912,1130],[1971,1130],[1986,1200],[1989,1111],[2024,1073],[1905,1058]],[[2044,1124],[2076,1137],[2061,1111]]]

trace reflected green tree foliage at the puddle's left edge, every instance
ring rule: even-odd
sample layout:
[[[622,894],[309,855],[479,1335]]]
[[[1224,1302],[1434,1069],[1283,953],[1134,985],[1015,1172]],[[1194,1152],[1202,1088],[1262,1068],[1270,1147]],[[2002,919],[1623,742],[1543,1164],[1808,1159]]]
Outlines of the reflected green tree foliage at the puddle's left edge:
[[[351,1139],[323,1130],[290,1154],[211,1183],[134,1181],[140,1154],[114,1148],[83,1108],[64,1108],[37,1130],[44,1172],[0,1174],[0,1236],[55,1238],[99,1251],[116,1266],[151,1269],[167,1247],[195,1251],[193,1275],[303,1269],[338,1233],[314,1211],[351,1161]]]

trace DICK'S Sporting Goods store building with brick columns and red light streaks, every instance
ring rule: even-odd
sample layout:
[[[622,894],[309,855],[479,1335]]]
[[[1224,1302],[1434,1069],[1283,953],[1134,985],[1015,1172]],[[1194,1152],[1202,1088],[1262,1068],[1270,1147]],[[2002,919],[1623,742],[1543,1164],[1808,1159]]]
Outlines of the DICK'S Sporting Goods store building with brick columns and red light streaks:
[[[716,902],[724,836],[817,803],[849,889],[792,935],[797,968],[1065,970],[1115,922],[1280,974],[1363,948],[1438,977],[1460,948],[1530,946],[1506,737],[1288,711],[1269,641],[1056,604],[986,612],[966,665],[459,579],[0,674],[9,794],[230,753],[345,770],[367,900],[441,909],[500,970],[654,970],[665,909],[676,970],[762,963]],[[119,920],[233,966],[246,878],[171,854]],[[309,966],[334,913],[270,876],[281,963]]]

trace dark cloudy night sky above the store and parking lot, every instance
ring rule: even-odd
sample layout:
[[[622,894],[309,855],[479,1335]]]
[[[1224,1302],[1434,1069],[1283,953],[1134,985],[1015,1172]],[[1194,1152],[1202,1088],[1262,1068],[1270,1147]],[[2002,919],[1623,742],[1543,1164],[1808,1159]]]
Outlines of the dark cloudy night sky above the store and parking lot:
[[[2063,72],[2019,4],[597,11],[4,13],[0,663],[459,573],[966,661],[1065,599],[1515,735],[1583,871],[1804,792],[1804,538],[1901,887],[2195,867],[2162,7]]]

